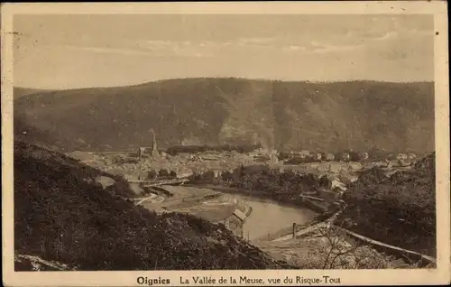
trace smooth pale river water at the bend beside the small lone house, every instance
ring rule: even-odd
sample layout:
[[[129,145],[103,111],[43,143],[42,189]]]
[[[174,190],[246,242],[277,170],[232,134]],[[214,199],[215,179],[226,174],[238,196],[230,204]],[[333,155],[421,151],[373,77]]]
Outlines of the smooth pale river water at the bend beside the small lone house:
[[[256,199],[239,194],[226,194],[235,198],[251,208],[251,215],[244,223],[244,238],[254,240],[277,232],[283,228],[291,227],[293,222],[305,224],[310,222],[318,213],[308,208],[295,208],[284,206],[271,199]]]

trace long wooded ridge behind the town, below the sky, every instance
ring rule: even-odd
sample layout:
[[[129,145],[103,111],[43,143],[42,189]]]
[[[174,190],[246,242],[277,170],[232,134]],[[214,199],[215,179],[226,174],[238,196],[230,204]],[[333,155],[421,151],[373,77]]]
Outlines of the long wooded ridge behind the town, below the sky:
[[[152,143],[432,152],[434,84],[169,79],[18,97],[14,113],[65,150]]]

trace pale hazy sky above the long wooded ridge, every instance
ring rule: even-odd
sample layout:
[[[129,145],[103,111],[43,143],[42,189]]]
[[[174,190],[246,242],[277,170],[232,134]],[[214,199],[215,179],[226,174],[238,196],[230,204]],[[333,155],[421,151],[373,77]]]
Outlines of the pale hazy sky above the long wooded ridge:
[[[14,15],[14,86],[434,79],[431,15]]]

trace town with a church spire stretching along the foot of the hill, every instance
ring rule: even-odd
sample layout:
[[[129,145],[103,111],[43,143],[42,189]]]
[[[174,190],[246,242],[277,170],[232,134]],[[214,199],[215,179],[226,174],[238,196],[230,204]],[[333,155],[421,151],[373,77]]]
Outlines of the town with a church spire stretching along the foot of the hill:
[[[244,151],[247,150],[248,152]],[[68,153],[81,162],[112,174],[122,175],[128,181],[152,181],[159,175],[172,178],[189,178],[194,173],[213,171],[215,177],[224,171],[232,172],[243,165],[267,165],[280,171],[335,175],[347,172],[348,180],[355,179],[355,171],[379,166],[386,171],[409,169],[424,154],[391,153],[374,149],[369,152],[327,153],[320,151],[282,151],[263,148],[261,144],[250,146],[173,146],[159,149],[156,136],[151,146],[135,151]]]

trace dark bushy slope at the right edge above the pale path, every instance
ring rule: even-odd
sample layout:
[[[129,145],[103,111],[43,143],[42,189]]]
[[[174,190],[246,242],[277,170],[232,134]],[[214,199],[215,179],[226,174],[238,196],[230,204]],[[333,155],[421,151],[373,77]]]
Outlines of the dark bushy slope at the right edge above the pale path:
[[[351,184],[344,199],[344,218],[364,236],[436,256],[435,153],[416,163],[412,171],[387,178],[373,168]]]

